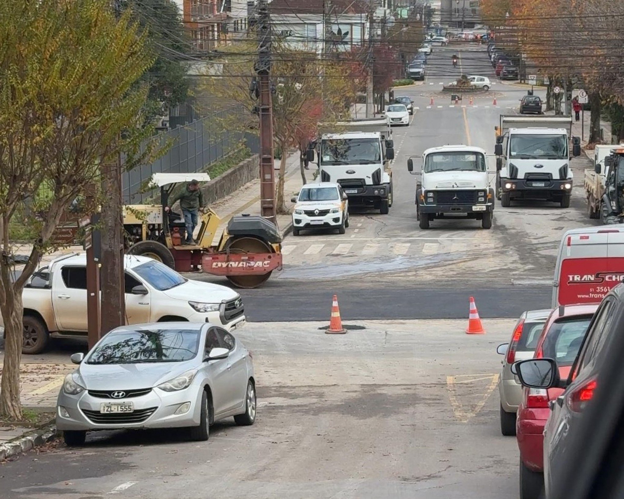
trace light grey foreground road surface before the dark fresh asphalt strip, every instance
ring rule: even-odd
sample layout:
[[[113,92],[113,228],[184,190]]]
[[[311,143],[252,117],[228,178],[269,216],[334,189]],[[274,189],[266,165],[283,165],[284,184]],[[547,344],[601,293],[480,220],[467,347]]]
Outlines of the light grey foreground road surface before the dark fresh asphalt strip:
[[[513,321],[249,324],[258,419],[99,432],[0,465],[2,499],[515,499],[518,450],[499,430],[499,342]]]

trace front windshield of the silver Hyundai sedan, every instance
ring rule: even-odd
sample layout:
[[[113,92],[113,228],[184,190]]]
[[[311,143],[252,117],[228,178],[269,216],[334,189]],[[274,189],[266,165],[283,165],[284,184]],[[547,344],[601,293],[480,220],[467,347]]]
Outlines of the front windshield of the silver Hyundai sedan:
[[[183,362],[197,355],[197,329],[110,332],[89,354],[87,364]]]

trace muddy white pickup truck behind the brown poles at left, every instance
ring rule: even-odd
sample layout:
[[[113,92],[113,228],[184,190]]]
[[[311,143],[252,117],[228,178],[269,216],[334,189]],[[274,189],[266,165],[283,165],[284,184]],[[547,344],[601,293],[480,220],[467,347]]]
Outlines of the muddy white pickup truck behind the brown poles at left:
[[[86,264],[84,254],[62,256],[38,269],[26,284],[24,354],[44,351],[51,337],[87,338]],[[236,291],[186,279],[145,256],[125,257],[125,314],[127,324],[208,321],[228,331],[245,324]]]

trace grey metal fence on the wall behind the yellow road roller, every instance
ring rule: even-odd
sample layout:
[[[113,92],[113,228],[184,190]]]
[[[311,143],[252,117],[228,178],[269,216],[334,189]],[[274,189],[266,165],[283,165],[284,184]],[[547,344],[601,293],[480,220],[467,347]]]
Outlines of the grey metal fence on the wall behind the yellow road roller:
[[[255,135],[223,130],[221,124],[225,122],[227,114],[220,112],[160,133],[161,145],[170,143],[170,147],[154,163],[122,174],[124,203],[138,205],[154,197],[153,191],[144,191],[154,173],[200,172],[231,152],[243,138],[251,151],[257,152],[258,138]]]

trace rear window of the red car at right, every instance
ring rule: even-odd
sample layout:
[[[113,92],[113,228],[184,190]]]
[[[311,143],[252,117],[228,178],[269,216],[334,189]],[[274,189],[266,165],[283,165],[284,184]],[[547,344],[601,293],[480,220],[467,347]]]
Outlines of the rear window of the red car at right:
[[[592,316],[582,316],[553,322],[542,344],[544,358],[555,359],[558,366],[572,366],[591,321]]]

